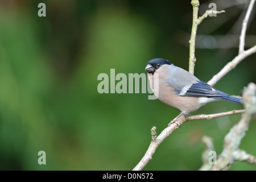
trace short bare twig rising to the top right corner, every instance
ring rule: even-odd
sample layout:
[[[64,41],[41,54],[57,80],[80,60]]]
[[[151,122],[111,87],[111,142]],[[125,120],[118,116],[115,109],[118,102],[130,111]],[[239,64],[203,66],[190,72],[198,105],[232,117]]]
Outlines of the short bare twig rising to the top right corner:
[[[247,22],[250,18],[251,11],[253,10],[253,5],[255,3],[255,0],[251,0],[248,6],[248,9],[245,14],[245,18],[243,19],[242,23],[242,30],[241,30],[241,35],[240,35],[240,44],[239,44],[239,51],[238,53],[242,53],[245,51],[245,34],[246,34],[246,29],[247,29]]]

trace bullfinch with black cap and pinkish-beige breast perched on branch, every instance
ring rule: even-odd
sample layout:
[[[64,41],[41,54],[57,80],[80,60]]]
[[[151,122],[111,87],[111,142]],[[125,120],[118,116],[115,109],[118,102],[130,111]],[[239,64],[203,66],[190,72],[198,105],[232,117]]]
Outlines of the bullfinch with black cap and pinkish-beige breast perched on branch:
[[[240,98],[229,96],[229,94],[214,89],[166,59],[155,58],[148,61],[145,71],[148,73],[148,79],[154,94],[158,92],[155,94],[158,99],[181,110],[181,114],[188,115],[188,113],[199,109],[208,102],[216,100],[242,104]],[[158,89],[154,85],[156,76],[158,76]],[[153,85],[155,89],[152,88]]]

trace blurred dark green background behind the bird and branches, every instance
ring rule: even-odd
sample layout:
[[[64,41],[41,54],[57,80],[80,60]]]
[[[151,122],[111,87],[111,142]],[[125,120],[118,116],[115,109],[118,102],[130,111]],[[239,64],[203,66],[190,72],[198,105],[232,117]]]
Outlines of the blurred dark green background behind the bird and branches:
[[[46,17],[38,4],[46,3]],[[197,31],[195,75],[208,81],[238,52],[247,1],[210,2],[225,14],[209,17]],[[255,14],[255,8],[253,16]],[[190,1],[0,1],[0,169],[131,170],[151,141],[179,110],[146,94],[99,94],[97,76],[145,73],[148,60],[163,57],[188,69]],[[256,43],[250,19],[246,48]],[[214,87],[239,95],[255,79],[251,55]],[[117,83],[118,81],[116,81]],[[212,102],[192,114],[242,106]],[[213,138],[217,154],[240,114],[189,121],[156,150],[146,170],[197,170],[201,138]],[[240,148],[256,155],[255,118]],[[38,152],[46,152],[46,165]],[[236,162],[232,170],[255,170]]]

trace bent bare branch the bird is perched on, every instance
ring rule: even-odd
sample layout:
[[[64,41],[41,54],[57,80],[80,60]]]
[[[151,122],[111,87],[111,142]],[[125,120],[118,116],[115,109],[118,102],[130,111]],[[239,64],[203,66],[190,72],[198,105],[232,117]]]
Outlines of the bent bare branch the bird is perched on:
[[[180,117],[176,118],[176,122],[178,122],[180,125],[183,123],[189,121],[189,120],[196,120],[196,119],[212,119],[216,117],[222,117],[225,115],[232,115],[232,114],[238,114],[243,113],[245,110],[232,110],[227,111],[224,113],[216,113],[216,114],[199,114],[199,115],[189,115],[188,117],[185,117],[183,114],[180,115]],[[150,146],[148,147],[148,150],[146,151],[146,154],[143,156],[141,161],[137,164],[137,166],[134,167],[134,171],[142,170],[144,166],[147,165],[147,163],[152,159],[152,155],[155,153],[156,148],[160,145],[160,143],[163,142],[164,139],[166,139],[172,131],[179,129],[179,125],[176,125],[176,123],[172,123],[170,126],[168,126],[166,129],[158,135],[154,140],[151,140]]]

